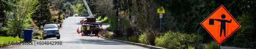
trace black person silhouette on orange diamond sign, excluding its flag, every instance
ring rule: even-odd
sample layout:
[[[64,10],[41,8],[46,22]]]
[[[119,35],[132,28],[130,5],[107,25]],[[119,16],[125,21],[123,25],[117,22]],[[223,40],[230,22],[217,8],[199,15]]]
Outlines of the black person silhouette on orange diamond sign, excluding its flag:
[[[222,19],[215,19],[217,21],[220,21],[221,22],[221,32],[220,32],[220,37],[221,37],[221,34],[222,34],[222,31],[224,32],[224,37],[226,37],[226,22],[229,22],[231,23],[232,19],[230,19],[230,21],[228,20],[225,20],[224,18],[226,17],[225,14],[222,14],[221,15],[221,18]]]

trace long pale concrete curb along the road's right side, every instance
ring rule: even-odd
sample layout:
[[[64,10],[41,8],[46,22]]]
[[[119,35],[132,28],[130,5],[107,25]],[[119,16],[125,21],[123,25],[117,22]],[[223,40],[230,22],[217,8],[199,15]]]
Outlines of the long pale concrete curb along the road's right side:
[[[147,45],[147,44],[142,44],[142,43],[135,43],[135,42],[130,42],[130,41],[118,40],[118,39],[109,39],[109,38],[105,38],[105,37],[102,37],[102,36],[99,36],[99,37],[101,37],[103,39],[106,39],[106,40],[114,40],[114,41],[123,42],[123,43],[126,43],[126,44],[132,44],[132,45],[137,45],[137,46],[141,46],[141,47],[146,47],[146,48],[150,48],[150,49],[167,49],[167,48],[164,48],[164,47],[158,47],[158,46]]]

